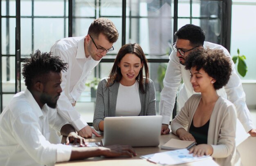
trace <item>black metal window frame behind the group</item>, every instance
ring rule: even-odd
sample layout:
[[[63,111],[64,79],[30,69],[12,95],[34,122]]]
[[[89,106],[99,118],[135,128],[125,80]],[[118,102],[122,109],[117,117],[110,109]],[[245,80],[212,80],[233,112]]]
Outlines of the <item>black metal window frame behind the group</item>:
[[[162,0],[160,0],[162,1]],[[182,18],[182,17],[178,17],[178,3],[179,0],[170,0],[171,2],[173,2],[174,5],[174,15],[173,15],[173,32],[177,31],[177,21],[178,19]],[[215,0],[212,0],[215,1]],[[9,0],[6,0],[6,2],[9,2]],[[33,7],[34,7],[34,0],[31,0],[32,2],[32,11],[33,11]],[[95,0],[95,6],[97,5],[101,5],[101,0]],[[64,3],[64,10],[66,9],[66,3],[67,0],[63,0]],[[192,0],[190,0],[190,7],[192,4]],[[72,37],[73,33],[74,33],[74,29],[73,29],[73,19],[75,19],[75,16],[73,15],[73,5],[74,5],[74,1],[73,0],[68,0],[68,15],[66,15],[64,12],[63,17],[60,16],[60,18],[64,19],[64,36],[66,35],[65,32],[65,24],[66,24],[66,18],[68,18],[68,37]],[[231,0],[222,0],[222,33],[224,35],[222,35],[222,44],[225,48],[227,48],[228,51],[230,51],[230,40],[231,40],[231,5],[232,2]],[[0,1],[0,8],[2,7],[2,0]],[[192,8],[192,7],[191,7]],[[100,9],[100,8],[99,8]],[[99,12],[99,17],[108,17],[111,18],[113,16],[106,16],[106,15],[101,15],[101,12]],[[126,44],[126,18],[128,16],[126,16],[126,0],[122,0],[122,35],[121,35],[121,43],[122,45]],[[130,17],[130,16],[129,16]],[[21,62],[23,62],[23,60],[25,60],[24,58],[21,57],[21,53],[20,53],[20,18],[31,18],[32,19],[32,51],[34,52],[34,42],[33,42],[33,19],[36,18],[33,15],[31,16],[20,16],[20,0],[16,0],[16,15],[2,15],[2,13],[0,13],[0,21],[2,22],[2,18],[16,18],[16,39],[15,39],[15,55],[11,55],[11,54],[2,54],[2,27],[0,27],[0,113],[2,113],[3,110],[3,95],[5,94],[15,94],[21,91]],[[43,18],[56,18],[56,17],[43,17]],[[88,17],[88,18],[94,18],[96,19],[96,9],[95,9],[95,17]],[[183,17],[184,18],[184,17]],[[191,20],[193,19],[191,13],[190,13],[190,17],[187,17]],[[200,18],[199,18],[200,19]],[[176,41],[175,36],[173,35],[173,42]],[[2,91],[2,57],[15,57],[15,91],[13,92],[3,92]],[[114,62],[114,58],[103,58],[101,60],[100,63],[104,63],[104,62]],[[148,62],[149,63],[168,63],[168,59],[157,59],[157,58],[148,58]],[[99,76],[99,74],[97,74],[97,72],[99,72],[99,65],[94,69],[95,70],[95,76]],[[173,111],[174,112],[174,111]]]

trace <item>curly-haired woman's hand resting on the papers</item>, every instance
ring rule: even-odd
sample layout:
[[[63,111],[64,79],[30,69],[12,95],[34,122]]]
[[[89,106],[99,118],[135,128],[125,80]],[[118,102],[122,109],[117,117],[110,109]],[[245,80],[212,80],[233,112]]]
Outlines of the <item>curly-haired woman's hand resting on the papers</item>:
[[[211,145],[208,145],[208,144],[200,144],[190,148],[189,153],[193,153],[193,156],[198,156],[198,157],[201,157],[203,155],[212,155],[213,148]]]

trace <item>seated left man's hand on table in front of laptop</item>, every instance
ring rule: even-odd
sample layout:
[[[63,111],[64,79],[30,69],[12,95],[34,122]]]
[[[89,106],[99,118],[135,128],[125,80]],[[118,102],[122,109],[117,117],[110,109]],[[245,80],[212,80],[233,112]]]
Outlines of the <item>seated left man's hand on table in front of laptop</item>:
[[[111,146],[105,146],[102,148],[103,148],[102,155],[106,157],[137,156],[134,149],[129,145],[111,145]]]

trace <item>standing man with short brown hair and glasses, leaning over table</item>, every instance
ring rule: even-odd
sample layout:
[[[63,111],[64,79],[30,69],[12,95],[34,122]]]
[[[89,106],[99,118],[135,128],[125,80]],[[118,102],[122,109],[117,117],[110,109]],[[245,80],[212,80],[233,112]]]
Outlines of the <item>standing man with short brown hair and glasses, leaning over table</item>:
[[[98,18],[92,22],[88,34],[81,37],[64,38],[56,41],[51,52],[67,63],[67,71],[62,72],[63,92],[57,102],[58,113],[74,126],[82,137],[100,136],[81,118],[75,110],[76,100],[85,89],[85,82],[92,69],[99,64],[106,53],[114,50],[113,43],[119,33],[112,21]],[[52,137],[52,142],[59,139]]]

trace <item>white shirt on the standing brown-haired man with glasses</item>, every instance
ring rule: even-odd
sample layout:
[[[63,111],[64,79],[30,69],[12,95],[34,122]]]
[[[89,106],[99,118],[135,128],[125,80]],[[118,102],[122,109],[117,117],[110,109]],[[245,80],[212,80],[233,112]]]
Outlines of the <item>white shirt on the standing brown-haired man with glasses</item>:
[[[61,88],[63,91],[57,102],[57,110],[67,122],[74,126],[76,131],[87,126],[87,123],[72,103],[80,97],[85,89],[88,76],[100,62],[93,60],[91,56],[85,57],[84,38],[84,36],[64,38],[56,41],[51,47],[54,56],[59,56],[63,62],[68,64],[67,71],[62,71]]]

